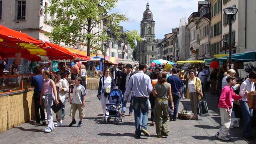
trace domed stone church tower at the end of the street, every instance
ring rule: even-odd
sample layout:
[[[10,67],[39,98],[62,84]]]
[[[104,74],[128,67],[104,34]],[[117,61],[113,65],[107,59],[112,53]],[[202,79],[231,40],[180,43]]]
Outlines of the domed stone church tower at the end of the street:
[[[157,44],[155,21],[153,20],[153,13],[149,9],[149,3],[146,5],[146,10],[143,12],[142,21],[140,22],[140,35],[144,41],[137,43],[137,60],[140,63],[148,64],[150,60],[156,59]]]

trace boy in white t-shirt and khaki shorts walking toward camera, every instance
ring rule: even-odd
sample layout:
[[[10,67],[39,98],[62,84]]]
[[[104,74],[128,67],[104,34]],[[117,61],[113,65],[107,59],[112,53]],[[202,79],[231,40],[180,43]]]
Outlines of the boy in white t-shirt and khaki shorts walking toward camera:
[[[79,111],[79,123],[77,127],[82,126],[82,118],[84,118],[84,106],[85,106],[85,95],[86,90],[84,86],[81,85],[82,78],[76,77],[75,79],[75,86],[73,89],[73,96],[71,100],[71,108],[70,108],[70,116],[72,117],[72,122],[69,124],[69,126],[72,126],[73,124],[76,124],[75,115],[76,110]]]

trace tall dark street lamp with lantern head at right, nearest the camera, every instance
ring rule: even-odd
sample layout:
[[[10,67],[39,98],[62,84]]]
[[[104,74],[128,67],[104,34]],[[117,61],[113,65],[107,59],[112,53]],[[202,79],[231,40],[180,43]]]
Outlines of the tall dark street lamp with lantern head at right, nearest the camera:
[[[224,8],[224,13],[228,16],[229,20],[229,69],[231,69],[231,46],[232,46],[232,18],[236,15],[238,9],[236,7]]]

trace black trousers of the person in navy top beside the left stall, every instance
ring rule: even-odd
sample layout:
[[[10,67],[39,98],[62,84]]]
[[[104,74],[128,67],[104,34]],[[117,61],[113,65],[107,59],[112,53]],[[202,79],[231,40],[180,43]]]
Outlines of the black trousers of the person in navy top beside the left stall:
[[[36,123],[40,124],[40,120],[45,120],[45,115],[44,115],[44,109],[40,106],[40,94],[41,92],[34,91],[33,97],[34,97],[34,104],[35,104],[35,112],[36,112]],[[39,110],[40,110],[40,115],[39,115]]]

